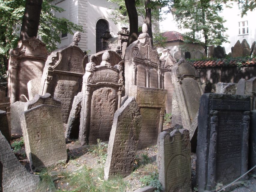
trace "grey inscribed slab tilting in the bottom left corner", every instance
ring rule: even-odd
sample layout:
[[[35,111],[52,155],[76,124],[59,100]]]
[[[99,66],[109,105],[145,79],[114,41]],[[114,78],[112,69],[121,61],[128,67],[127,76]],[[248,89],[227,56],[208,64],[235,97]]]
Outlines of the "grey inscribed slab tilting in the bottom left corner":
[[[11,150],[11,146],[1,132],[0,154],[0,184],[2,182],[3,191],[35,192],[37,184],[40,181],[39,176],[30,174],[25,167],[20,164]]]

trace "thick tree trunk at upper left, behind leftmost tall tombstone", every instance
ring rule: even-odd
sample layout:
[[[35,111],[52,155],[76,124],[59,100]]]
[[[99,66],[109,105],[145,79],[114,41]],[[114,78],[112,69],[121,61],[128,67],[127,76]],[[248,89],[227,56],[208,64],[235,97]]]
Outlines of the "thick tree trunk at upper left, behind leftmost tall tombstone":
[[[25,12],[20,30],[20,40],[36,37],[43,0],[26,0]]]

